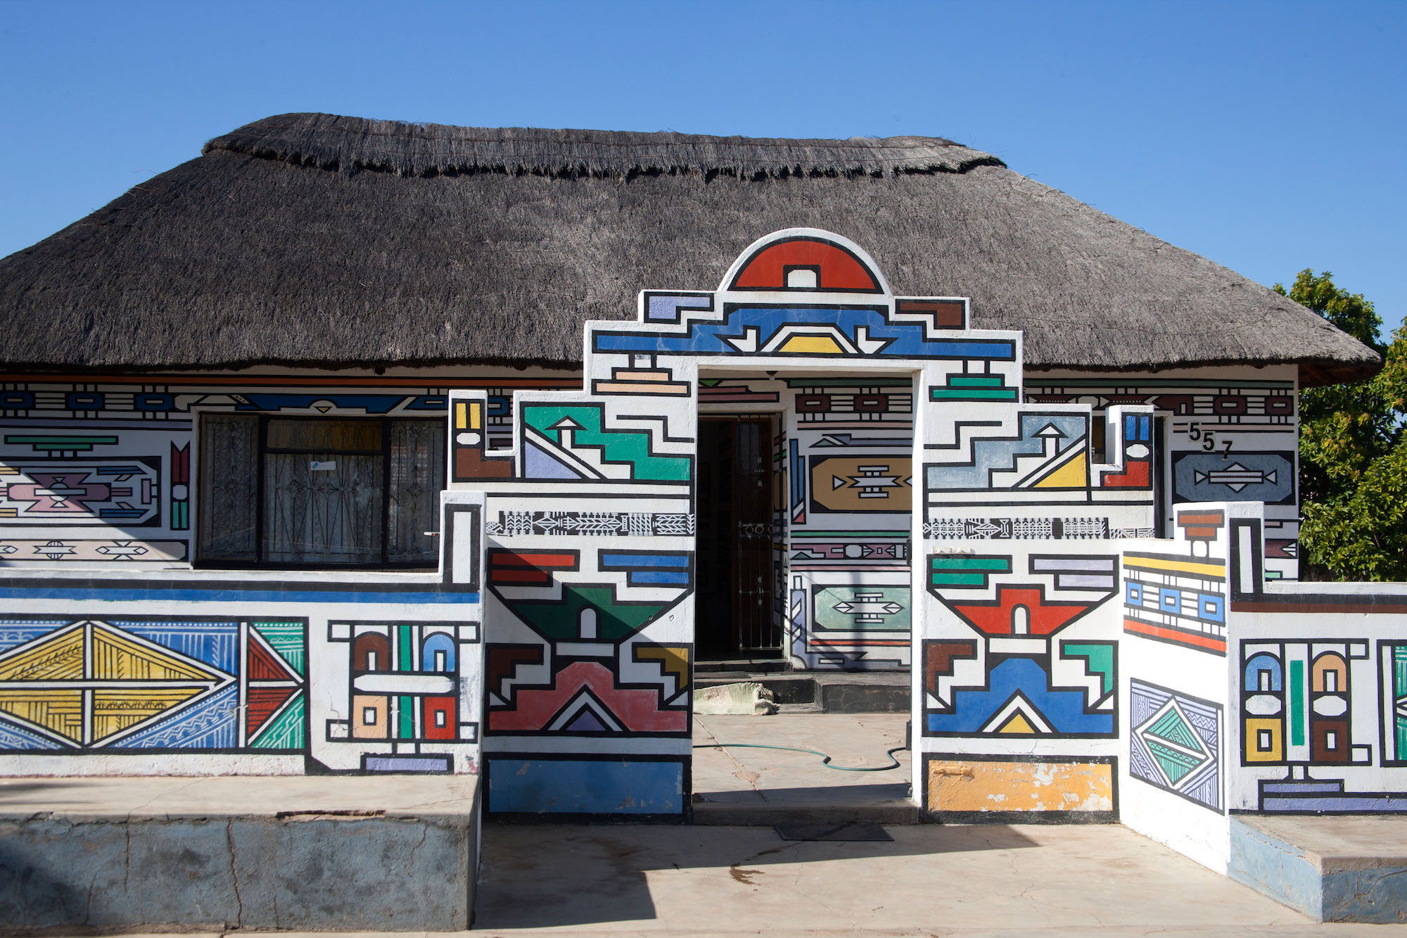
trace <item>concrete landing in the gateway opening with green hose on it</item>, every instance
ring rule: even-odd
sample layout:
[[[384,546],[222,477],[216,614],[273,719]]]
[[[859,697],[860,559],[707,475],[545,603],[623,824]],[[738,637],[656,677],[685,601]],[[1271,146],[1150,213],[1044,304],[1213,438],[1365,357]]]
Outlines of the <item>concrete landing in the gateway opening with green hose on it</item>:
[[[893,753],[896,769],[841,772],[806,752],[758,748],[817,749],[834,765],[878,769],[893,762],[886,749],[903,746],[906,723],[908,714],[878,713],[695,715],[694,823],[917,824],[906,751]]]

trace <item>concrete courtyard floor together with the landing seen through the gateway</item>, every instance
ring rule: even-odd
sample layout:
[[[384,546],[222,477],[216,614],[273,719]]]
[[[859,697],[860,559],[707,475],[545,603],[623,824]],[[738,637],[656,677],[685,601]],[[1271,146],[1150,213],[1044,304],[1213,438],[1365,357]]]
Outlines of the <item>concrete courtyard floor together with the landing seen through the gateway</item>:
[[[915,824],[906,752],[902,769],[851,773],[737,745],[879,766],[905,718],[695,717],[699,824],[485,823],[473,934],[1407,937],[1407,925],[1314,923],[1117,824]],[[834,810],[882,821],[893,839],[785,841],[737,825]]]

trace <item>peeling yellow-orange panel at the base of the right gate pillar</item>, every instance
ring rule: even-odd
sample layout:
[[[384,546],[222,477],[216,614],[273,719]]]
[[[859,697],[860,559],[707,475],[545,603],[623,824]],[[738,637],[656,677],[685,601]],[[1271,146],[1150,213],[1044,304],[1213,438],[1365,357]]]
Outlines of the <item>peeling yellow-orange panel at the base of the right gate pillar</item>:
[[[1113,811],[1103,762],[929,762],[930,811]]]

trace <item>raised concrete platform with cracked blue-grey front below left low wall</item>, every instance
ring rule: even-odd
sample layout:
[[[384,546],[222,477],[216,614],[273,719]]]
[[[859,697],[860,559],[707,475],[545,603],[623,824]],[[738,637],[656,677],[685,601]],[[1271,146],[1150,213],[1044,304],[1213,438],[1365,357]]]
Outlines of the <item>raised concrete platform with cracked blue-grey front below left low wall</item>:
[[[0,779],[0,928],[469,928],[476,776]]]

